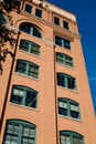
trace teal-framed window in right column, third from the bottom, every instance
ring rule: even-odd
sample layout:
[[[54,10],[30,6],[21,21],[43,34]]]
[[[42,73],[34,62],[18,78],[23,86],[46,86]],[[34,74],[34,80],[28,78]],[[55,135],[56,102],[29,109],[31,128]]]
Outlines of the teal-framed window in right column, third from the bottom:
[[[71,90],[76,90],[76,80],[75,78],[67,75],[65,73],[57,73],[57,85]]]

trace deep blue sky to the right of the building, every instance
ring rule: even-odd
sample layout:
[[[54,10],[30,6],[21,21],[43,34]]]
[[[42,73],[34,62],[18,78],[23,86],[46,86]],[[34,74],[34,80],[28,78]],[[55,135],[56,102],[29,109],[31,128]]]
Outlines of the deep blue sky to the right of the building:
[[[76,16],[96,113],[96,0],[46,0]]]

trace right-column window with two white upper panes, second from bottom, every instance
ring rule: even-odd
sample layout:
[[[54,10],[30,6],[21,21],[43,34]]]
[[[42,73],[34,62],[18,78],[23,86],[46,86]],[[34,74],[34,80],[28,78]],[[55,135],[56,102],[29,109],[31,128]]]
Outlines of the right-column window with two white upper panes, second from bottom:
[[[58,99],[58,114],[73,119],[81,119],[79,105],[67,99]]]

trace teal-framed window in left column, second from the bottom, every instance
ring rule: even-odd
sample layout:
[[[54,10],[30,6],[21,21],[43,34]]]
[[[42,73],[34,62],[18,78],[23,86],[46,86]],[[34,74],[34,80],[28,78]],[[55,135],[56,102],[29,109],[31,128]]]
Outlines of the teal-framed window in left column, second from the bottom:
[[[10,102],[36,109],[38,92],[25,86],[13,85]]]

